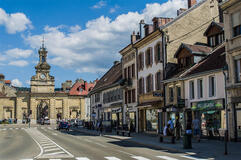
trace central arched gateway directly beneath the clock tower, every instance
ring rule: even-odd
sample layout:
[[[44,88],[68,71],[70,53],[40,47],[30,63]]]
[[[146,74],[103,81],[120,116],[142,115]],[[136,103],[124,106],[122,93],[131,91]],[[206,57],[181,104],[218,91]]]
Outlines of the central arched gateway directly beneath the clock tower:
[[[41,101],[37,106],[37,120],[49,118],[49,105],[46,101]]]

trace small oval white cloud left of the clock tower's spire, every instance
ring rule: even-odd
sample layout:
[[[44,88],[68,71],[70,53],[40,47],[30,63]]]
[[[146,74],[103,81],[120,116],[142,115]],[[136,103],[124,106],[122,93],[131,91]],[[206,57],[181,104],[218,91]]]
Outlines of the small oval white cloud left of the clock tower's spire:
[[[33,51],[29,49],[23,50],[19,48],[14,48],[14,49],[7,50],[5,53],[6,55],[14,58],[27,58],[33,53]]]

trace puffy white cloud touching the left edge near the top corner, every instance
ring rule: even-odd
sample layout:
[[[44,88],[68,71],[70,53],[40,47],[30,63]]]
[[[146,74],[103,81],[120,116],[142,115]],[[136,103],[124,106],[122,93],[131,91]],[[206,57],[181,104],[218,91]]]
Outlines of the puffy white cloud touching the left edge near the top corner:
[[[27,28],[32,28],[31,21],[23,13],[6,13],[0,8],[0,25],[6,27],[6,30],[10,34],[16,32],[22,32]]]

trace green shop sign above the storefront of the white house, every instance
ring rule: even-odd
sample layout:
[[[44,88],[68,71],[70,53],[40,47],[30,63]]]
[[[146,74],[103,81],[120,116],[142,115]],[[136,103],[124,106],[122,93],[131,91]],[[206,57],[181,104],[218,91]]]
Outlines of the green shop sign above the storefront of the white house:
[[[223,104],[215,101],[202,101],[192,105],[192,110],[214,110],[223,109]]]

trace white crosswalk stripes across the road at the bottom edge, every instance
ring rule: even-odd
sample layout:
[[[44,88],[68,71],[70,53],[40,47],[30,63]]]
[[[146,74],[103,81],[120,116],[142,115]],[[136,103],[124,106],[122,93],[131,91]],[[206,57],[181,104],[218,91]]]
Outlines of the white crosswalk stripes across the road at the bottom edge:
[[[39,159],[39,158],[38,158]],[[40,158],[41,159],[41,158]],[[106,156],[104,157],[106,160],[126,160],[121,157],[115,157],[115,156]],[[159,159],[159,160],[210,160],[210,159],[203,159],[203,158],[195,158],[190,155],[184,155],[184,156],[179,156],[179,157],[171,157],[167,155],[162,155],[162,156],[153,156],[152,158],[146,158],[142,156],[130,156],[128,158],[130,160],[152,160],[152,159]],[[21,159],[21,160],[33,160],[33,159]],[[44,159],[44,160],[98,160],[98,159],[91,159],[88,157],[75,157],[75,158],[64,158],[64,159],[59,159],[59,158],[50,158],[50,159]]]

